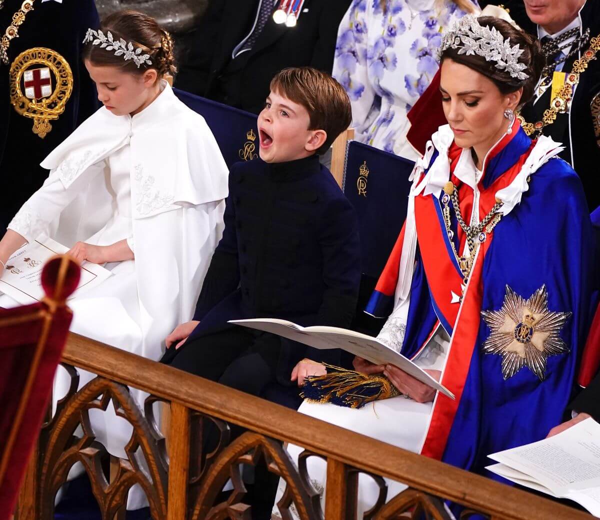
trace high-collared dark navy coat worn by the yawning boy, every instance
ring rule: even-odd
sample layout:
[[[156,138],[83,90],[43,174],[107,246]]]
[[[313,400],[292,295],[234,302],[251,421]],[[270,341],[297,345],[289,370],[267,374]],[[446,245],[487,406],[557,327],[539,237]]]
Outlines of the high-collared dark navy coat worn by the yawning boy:
[[[350,325],[361,279],[358,221],[317,156],[233,165],[224,220],[190,339],[234,326],[230,319]],[[278,379],[289,383],[304,357],[338,364],[339,356],[282,340]]]

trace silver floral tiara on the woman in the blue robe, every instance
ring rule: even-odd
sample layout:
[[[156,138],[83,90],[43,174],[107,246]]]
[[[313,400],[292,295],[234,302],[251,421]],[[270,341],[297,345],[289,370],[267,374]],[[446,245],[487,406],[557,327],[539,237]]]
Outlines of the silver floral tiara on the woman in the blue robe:
[[[442,37],[442,45],[437,49],[437,61],[441,61],[446,49],[458,49],[458,54],[478,55],[485,61],[495,61],[496,68],[508,72],[511,77],[524,81],[529,75],[523,72],[527,65],[518,59],[523,54],[518,44],[511,47],[511,39],[500,34],[495,27],[479,25],[472,14],[463,16]]]

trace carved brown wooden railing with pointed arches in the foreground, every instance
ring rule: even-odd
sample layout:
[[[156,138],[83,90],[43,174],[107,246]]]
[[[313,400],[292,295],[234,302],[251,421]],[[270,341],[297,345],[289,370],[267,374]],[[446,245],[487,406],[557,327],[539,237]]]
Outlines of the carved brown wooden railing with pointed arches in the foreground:
[[[368,473],[381,491],[380,503],[365,518],[428,518],[448,520],[443,500],[463,504],[461,518],[481,514],[491,520],[589,520],[592,518],[562,504],[468,473],[424,456],[361,436],[251,395],[160,365],[77,335],[71,335],[63,356],[71,374],[71,389],[55,415],[43,425],[38,449],[20,493],[16,519],[50,520],[55,494],[68,470],[83,462],[103,519],[124,518],[127,490],[139,483],[149,500],[154,520],[250,519],[243,486],[228,501],[219,503],[227,480],[239,474],[240,464],[268,464],[283,477],[287,492],[281,501],[282,518],[294,503],[302,520],[352,520],[356,518],[358,474]],[[98,374],[77,391],[77,368]],[[145,410],[132,400],[127,386],[150,397]],[[107,479],[101,467],[106,450],[93,439],[88,410],[106,410],[109,400],[118,414],[133,425],[128,452],[142,452],[147,470],[136,459],[119,459]],[[170,407],[169,442],[155,424],[153,405]],[[210,418],[221,431],[220,446],[201,464],[197,442],[200,418]],[[226,422],[247,428],[228,442]],[[84,434],[76,435],[83,425]],[[281,442],[304,447],[327,461],[327,492],[322,512],[316,491],[305,472],[298,471]],[[348,449],[352,446],[352,449]],[[202,467],[201,467],[202,466]],[[406,483],[409,488],[387,504],[385,481]],[[235,479],[234,479],[235,480]]]

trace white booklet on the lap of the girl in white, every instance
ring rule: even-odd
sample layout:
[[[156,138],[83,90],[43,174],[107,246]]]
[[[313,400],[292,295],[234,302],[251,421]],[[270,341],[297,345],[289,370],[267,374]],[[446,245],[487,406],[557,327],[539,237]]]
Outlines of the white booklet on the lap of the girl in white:
[[[40,301],[44,297],[44,289],[41,286],[41,271],[44,265],[53,256],[67,251],[68,247],[47,237],[25,244],[8,259],[0,278],[0,292],[22,305]],[[84,262],[79,285],[70,299],[100,285],[109,276],[110,271],[101,265]]]

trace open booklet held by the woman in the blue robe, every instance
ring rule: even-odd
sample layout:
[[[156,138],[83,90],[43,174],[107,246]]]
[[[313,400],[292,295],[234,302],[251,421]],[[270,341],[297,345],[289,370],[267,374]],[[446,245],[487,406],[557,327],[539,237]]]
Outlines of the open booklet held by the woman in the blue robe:
[[[338,327],[303,327],[277,318],[240,319],[231,320],[229,323],[271,332],[271,334],[298,341],[298,343],[304,343],[319,350],[343,349],[376,365],[395,365],[425,385],[454,399],[451,391],[433,379],[422,368],[373,336]]]

